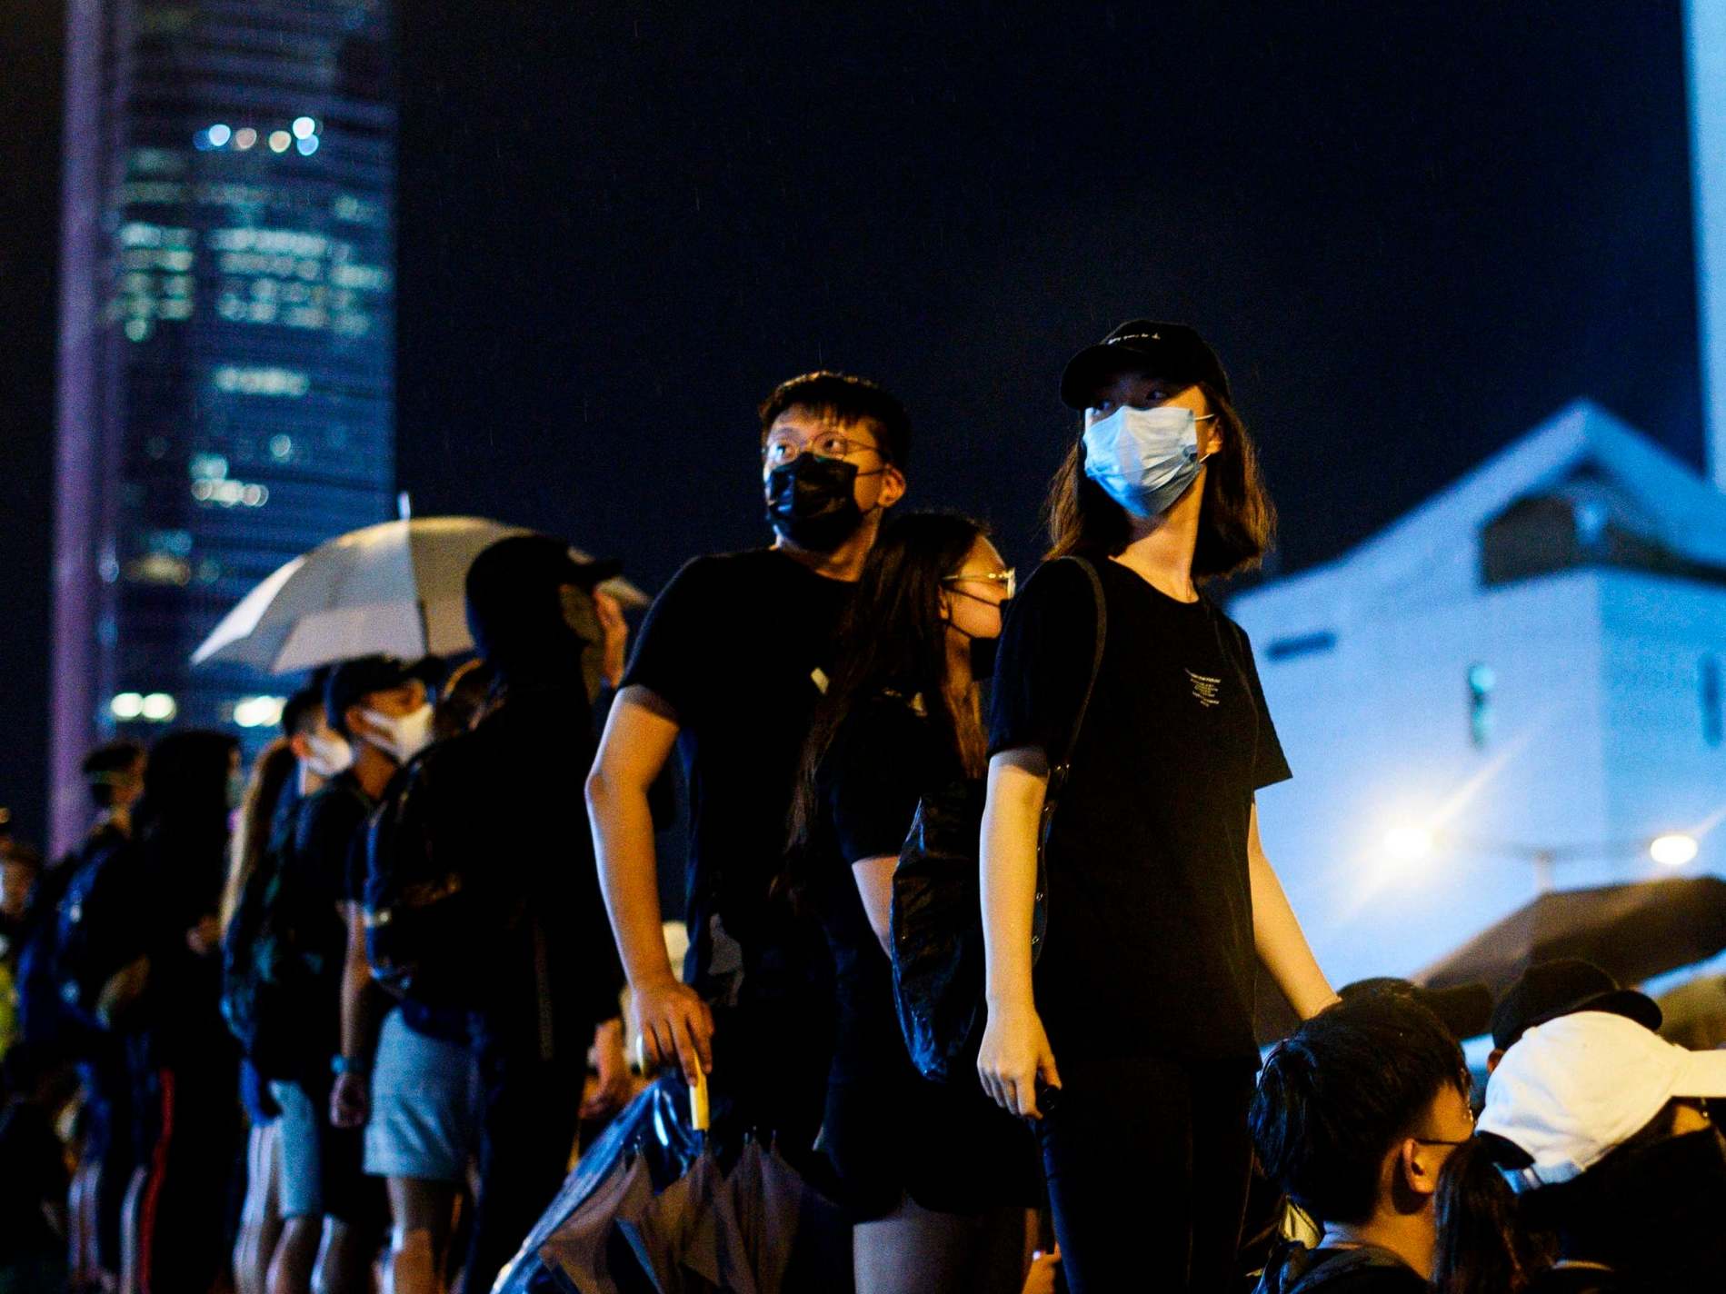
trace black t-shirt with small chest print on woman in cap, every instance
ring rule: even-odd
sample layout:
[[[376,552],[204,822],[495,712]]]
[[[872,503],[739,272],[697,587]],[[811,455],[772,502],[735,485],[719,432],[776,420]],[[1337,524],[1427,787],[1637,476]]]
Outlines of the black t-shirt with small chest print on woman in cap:
[[[1257,1059],[1248,825],[1289,769],[1251,644],[1208,599],[1094,566],[1108,631],[1049,837],[1037,1009],[1056,1058]],[[991,754],[1060,759],[1094,635],[1084,571],[1043,566],[1003,630]]]

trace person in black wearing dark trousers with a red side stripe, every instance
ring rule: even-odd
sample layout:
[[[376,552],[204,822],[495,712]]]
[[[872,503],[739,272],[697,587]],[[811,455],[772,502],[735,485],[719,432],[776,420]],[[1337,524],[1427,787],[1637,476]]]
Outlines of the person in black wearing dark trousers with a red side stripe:
[[[240,1052],[221,1016],[217,911],[238,773],[233,737],[169,733],[150,747],[138,802],[147,973],[129,1051],[145,1134],[138,1270],[147,1291],[209,1289],[228,1266]]]

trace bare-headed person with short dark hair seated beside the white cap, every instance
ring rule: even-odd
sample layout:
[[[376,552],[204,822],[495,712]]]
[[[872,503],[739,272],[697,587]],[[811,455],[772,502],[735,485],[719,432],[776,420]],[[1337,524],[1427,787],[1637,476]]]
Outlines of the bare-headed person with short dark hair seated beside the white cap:
[[[1251,1106],[1265,1175],[1324,1227],[1281,1246],[1260,1294],[1420,1294],[1434,1192],[1474,1134],[1462,1047],[1402,992],[1345,997],[1277,1044]]]

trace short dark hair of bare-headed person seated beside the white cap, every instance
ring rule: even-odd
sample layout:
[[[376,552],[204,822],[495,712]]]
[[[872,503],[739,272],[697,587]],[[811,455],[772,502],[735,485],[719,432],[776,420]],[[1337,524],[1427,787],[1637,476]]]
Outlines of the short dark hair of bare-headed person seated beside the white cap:
[[[1364,1222],[1386,1151],[1445,1089],[1469,1092],[1462,1047],[1402,994],[1334,1002],[1270,1052],[1250,1121],[1265,1175],[1319,1222]]]

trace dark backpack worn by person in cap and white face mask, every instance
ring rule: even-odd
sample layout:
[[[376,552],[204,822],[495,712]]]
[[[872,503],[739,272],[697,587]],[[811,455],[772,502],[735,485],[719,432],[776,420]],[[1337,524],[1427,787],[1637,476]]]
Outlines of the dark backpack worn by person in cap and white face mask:
[[[221,947],[221,1013],[264,1078],[302,1077],[314,1040],[330,1033],[335,920],[293,866],[290,821],[240,887]]]

